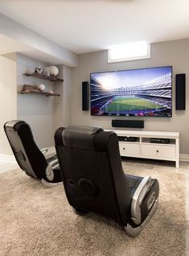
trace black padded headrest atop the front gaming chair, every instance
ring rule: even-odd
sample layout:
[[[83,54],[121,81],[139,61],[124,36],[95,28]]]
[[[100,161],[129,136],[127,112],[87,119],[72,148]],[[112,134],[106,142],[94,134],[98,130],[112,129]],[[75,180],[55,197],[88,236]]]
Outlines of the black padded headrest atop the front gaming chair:
[[[63,131],[63,142],[65,147],[93,150],[94,136],[102,131],[99,127],[92,126],[68,126]]]

